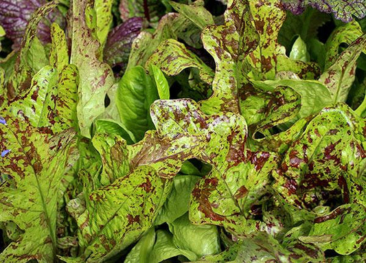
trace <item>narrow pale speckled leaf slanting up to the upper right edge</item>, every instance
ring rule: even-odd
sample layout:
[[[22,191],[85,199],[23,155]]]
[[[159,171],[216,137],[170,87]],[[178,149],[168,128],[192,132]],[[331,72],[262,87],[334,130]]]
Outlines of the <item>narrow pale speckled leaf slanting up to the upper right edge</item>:
[[[319,78],[319,82],[328,87],[333,102],[345,102],[354,82],[356,62],[366,49],[366,35],[360,36],[336,59]]]

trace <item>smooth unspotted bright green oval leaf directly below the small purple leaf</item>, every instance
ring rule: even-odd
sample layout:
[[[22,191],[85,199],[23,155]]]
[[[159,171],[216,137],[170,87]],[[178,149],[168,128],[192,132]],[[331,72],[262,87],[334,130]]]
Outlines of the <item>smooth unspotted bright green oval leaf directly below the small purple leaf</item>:
[[[118,82],[116,105],[121,122],[140,141],[146,130],[154,129],[150,105],[159,98],[154,82],[143,67],[129,69]]]

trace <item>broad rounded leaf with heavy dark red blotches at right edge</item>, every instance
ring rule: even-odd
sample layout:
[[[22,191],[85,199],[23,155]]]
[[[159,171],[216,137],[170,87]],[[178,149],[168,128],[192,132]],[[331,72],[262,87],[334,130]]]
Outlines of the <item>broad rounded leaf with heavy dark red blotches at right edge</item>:
[[[273,171],[275,190],[292,205],[366,204],[365,120],[345,104],[324,108]]]

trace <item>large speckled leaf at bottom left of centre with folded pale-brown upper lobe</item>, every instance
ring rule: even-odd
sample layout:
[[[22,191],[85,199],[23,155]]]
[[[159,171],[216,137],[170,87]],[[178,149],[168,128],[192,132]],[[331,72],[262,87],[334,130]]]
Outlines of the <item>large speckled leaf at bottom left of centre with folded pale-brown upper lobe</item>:
[[[183,161],[201,152],[203,137],[163,137],[152,131],[132,146],[106,133],[92,141],[102,158],[102,187],[88,194],[85,211],[76,220],[80,246],[86,249],[81,258],[100,262],[126,249],[152,226],[170,192],[170,179]]]

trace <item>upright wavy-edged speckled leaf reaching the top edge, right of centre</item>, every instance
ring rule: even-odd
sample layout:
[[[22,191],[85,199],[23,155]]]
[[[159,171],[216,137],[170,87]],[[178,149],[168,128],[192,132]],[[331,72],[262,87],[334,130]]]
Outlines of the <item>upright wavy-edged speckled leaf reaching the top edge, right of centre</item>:
[[[202,32],[203,45],[216,62],[213,94],[201,102],[208,114],[240,112],[238,88],[247,83],[243,60],[259,41],[252,25],[249,1],[230,1],[228,6],[224,25],[209,25]]]

